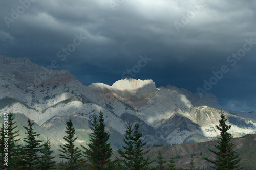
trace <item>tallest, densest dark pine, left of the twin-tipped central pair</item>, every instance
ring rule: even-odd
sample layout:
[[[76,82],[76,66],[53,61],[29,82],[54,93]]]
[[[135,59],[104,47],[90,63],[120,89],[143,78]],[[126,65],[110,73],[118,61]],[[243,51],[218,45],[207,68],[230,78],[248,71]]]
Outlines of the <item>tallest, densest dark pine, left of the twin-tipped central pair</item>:
[[[110,135],[105,132],[105,124],[102,111],[99,112],[99,122],[94,116],[92,127],[93,133],[89,135],[88,148],[81,145],[84,149],[89,165],[93,169],[110,169],[112,148],[107,143]]]

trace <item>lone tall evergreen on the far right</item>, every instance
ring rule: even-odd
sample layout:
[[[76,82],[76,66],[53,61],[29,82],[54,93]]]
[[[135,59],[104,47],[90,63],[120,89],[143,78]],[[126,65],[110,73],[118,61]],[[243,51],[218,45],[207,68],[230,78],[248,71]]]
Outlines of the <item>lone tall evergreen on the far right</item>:
[[[240,159],[239,154],[237,154],[233,149],[235,147],[234,143],[231,142],[232,135],[227,131],[231,128],[231,125],[226,125],[226,117],[224,112],[220,112],[221,119],[219,120],[219,126],[216,125],[217,129],[220,130],[220,137],[218,137],[218,145],[215,145],[217,151],[210,150],[210,152],[216,155],[216,160],[210,160],[208,158],[204,158],[206,161],[214,164],[212,167],[214,169],[241,169],[240,168]]]

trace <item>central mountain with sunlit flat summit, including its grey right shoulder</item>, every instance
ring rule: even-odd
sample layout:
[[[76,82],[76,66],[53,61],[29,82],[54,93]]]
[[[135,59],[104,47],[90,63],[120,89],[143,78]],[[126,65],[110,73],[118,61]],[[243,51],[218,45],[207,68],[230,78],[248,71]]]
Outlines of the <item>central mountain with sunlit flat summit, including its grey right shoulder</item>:
[[[131,114],[151,126],[169,118],[174,112],[182,112],[181,109],[188,112],[193,107],[177,87],[156,88],[153,80],[124,79],[116,81],[112,86],[93,83],[89,87],[111,107],[119,110],[119,115],[134,110]]]

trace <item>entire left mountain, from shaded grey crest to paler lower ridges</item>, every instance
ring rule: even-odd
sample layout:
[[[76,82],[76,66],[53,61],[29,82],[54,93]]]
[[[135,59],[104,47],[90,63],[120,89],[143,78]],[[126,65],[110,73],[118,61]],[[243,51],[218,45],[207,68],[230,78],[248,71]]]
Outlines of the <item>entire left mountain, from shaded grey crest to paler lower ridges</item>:
[[[5,56],[0,56],[0,66],[0,99],[2,103],[11,102],[3,111],[23,113],[39,125],[55,115],[66,112],[73,114],[83,107],[72,101],[105,105],[90,88],[73,78],[67,70],[53,71],[27,58]],[[65,107],[63,110],[66,111],[63,112],[59,106]]]

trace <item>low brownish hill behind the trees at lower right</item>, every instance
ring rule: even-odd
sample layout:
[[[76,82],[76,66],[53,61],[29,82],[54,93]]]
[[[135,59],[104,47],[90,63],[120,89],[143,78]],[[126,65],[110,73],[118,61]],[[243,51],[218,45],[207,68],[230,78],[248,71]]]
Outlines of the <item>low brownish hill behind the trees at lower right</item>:
[[[248,134],[240,138],[233,138],[231,140],[234,142],[236,147],[234,148],[240,154],[241,166],[247,169],[256,169],[256,135]],[[191,161],[191,155],[193,155],[193,161],[195,162],[196,168],[205,168],[209,166],[209,163],[203,160],[202,157],[208,157],[214,159],[214,155],[209,152],[208,148],[216,150],[215,145],[217,145],[216,140],[211,140],[207,142],[194,143],[194,144],[179,144],[171,145],[168,147],[152,147],[146,148],[150,150],[146,156],[150,156],[151,159],[157,160],[158,151],[162,152],[163,159],[166,162],[169,160],[170,154],[176,157],[175,165],[180,168],[188,168],[189,162]],[[119,157],[117,151],[114,152],[112,158],[115,156]],[[153,162],[153,165],[157,165],[157,162]]]

